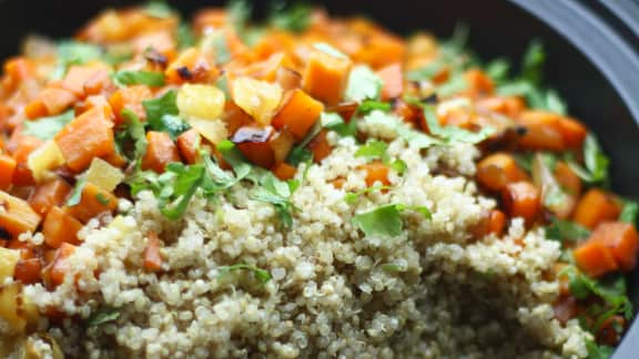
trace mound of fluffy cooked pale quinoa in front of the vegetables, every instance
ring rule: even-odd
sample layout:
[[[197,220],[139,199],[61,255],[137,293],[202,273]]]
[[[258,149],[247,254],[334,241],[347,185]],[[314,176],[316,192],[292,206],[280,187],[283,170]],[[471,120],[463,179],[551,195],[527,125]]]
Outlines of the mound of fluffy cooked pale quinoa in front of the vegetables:
[[[395,139],[383,126],[369,133]],[[475,146],[418,150],[396,139],[388,153],[407,164],[392,189],[371,192],[355,205],[346,192],[366,188],[364,160],[353,139],[329,135],[333,153],[297,172],[292,197],[298,211],[284,229],[274,207],[236,184],[217,201],[195,196],[185,215],[168,220],[150,192],[106,226],[81,232],[62,285],[24,288],[41,310],[42,329],[71,358],[581,358],[591,336],[578,322],[554,318],[558,283],[548,279],[560,255],[542,229],[520,218],[507,234],[476,238],[473,227],[493,208],[474,174]],[[442,166],[458,176],[438,175]],[[345,178],[342,188],[332,181]],[[384,204],[426,206],[432,218],[404,213],[402,235],[366,237],[352,218]],[[163,243],[162,270],[143,269],[146,234]],[[261,284],[245,263],[267,270]],[[94,275],[95,274],[95,275]],[[77,285],[74,284],[77,283]],[[100,326],[89,318],[111,308]]]

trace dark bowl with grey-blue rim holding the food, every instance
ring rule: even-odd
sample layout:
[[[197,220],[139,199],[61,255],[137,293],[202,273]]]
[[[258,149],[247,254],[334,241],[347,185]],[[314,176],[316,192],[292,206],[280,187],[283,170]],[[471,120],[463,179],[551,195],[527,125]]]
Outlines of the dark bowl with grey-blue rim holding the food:
[[[189,13],[199,1],[170,1]],[[105,7],[131,1],[0,0],[0,60],[19,51],[29,33],[69,37]],[[179,3],[179,4],[178,4]],[[207,1],[205,6],[222,4]],[[257,12],[266,1],[255,1]],[[322,1],[334,14],[366,14],[402,34],[428,30],[447,37],[455,24],[470,28],[469,47],[483,59],[517,63],[528,42],[546,45],[546,83],[559,91],[569,112],[599,136],[611,158],[612,187],[639,198],[639,4],[631,0],[448,0]],[[630,298],[639,306],[639,275],[629,276]],[[639,321],[628,329],[613,358],[636,358]]]

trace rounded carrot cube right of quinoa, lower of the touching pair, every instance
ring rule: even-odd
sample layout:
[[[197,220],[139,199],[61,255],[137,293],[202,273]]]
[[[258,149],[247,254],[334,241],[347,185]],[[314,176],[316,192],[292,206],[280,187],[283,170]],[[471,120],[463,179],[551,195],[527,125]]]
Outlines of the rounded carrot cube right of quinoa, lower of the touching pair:
[[[531,225],[539,215],[541,194],[529,182],[509,183],[504,188],[501,199],[510,218],[521,217],[527,225]]]

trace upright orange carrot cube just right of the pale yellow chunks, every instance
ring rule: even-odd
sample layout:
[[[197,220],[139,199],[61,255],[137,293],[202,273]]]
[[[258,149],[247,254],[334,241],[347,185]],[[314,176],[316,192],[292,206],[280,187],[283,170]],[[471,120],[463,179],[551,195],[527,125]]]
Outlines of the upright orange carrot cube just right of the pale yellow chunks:
[[[348,59],[314,51],[302,74],[302,88],[313,98],[335,105],[344,96],[352,65]]]

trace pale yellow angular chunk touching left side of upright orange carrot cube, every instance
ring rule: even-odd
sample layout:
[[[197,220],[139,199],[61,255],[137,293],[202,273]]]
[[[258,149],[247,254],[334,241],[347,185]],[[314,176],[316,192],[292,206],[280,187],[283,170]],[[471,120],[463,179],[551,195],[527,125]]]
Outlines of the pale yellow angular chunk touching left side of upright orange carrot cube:
[[[251,78],[239,78],[231,83],[233,101],[262,125],[271,124],[275,110],[282,102],[278,84]]]

